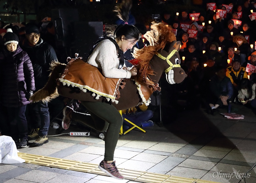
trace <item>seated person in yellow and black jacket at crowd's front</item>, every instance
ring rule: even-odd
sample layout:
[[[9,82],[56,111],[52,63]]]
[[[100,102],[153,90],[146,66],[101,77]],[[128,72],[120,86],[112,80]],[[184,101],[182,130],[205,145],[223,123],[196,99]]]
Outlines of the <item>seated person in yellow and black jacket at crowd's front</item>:
[[[239,60],[233,62],[232,66],[227,68],[226,76],[229,77],[231,83],[233,84],[234,93],[231,97],[231,101],[234,101],[238,94],[238,85],[240,84],[242,78],[248,78],[247,72],[244,67],[241,67]]]

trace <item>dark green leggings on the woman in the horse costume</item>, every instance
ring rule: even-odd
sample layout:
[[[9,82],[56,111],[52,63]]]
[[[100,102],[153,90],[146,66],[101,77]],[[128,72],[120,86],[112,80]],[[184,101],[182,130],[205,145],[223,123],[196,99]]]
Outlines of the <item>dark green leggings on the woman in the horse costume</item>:
[[[81,104],[89,110],[90,115],[73,111],[72,120],[80,121],[87,126],[104,132],[105,134],[105,161],[113,161],[119,131],[123,124],[123,118],[119,111],[105,102],[86,102]]]

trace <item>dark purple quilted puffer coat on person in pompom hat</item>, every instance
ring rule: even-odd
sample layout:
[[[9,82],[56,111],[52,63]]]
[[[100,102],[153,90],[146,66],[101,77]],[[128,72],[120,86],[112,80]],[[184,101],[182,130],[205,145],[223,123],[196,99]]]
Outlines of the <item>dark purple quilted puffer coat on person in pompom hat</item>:
[[[20,107],[29,104],[28,91],[35,90],[34,72],[28,54],[19,45],[14,52],[0,52],[0,100],[3,106]]]

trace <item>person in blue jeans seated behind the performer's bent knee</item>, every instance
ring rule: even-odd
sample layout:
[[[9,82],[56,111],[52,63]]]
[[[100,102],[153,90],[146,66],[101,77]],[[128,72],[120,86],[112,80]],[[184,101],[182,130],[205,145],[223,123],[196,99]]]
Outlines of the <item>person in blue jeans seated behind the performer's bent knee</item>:
[[[151,127],[154,125],[153,121],[149,120],[153,117],[153,111],[147,110],[147,106],[145,104],[138,105],[136,107],[122,110],[123,118],[133,122],[138,127]],[[123,121],[123,130],[127,130],[133,127],[132,124],[127,122],[126,120]]]

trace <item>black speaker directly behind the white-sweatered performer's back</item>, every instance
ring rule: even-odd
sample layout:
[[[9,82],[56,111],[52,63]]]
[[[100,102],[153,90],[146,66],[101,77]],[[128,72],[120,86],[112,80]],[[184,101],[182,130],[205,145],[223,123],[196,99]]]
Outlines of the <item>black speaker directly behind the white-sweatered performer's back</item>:
[[[103,35],[102,22],[74,22],[74,52],[88,58],[94,43]]]

